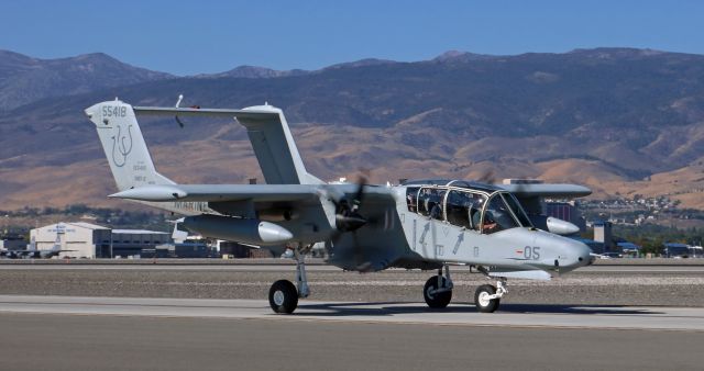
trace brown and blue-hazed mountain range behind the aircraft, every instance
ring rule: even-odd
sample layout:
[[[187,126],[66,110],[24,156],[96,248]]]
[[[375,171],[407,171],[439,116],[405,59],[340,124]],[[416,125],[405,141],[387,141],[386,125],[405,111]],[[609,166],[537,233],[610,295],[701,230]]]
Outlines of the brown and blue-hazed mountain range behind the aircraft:
[[[82,110],[135,105],[284,110],[312,173],[372,180],[540,178],[595,196],[667,194],[704,209],[704,56],[634,48],[514,56],[448,52],[319,70],[240,66],[188,77],[105,54],[0,52],[0,209],[108,201],[114,186]],[[179,182],[262,179],[244,131],[218,120],[141,120]]]

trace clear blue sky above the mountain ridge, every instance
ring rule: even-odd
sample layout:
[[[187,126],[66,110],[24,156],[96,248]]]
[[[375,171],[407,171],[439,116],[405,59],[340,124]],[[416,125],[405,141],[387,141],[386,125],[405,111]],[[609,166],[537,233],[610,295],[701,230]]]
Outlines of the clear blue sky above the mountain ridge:
[[[2,1],[0,49],[175,75],[630,46],[704,54],[704,1]]]

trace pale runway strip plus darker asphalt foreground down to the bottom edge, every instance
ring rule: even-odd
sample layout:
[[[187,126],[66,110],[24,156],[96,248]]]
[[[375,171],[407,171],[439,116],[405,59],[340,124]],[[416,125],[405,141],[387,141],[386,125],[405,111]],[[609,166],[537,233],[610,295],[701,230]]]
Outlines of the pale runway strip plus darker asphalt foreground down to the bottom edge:
[[[697,370],[704,310],[0,296],[7,370]]]

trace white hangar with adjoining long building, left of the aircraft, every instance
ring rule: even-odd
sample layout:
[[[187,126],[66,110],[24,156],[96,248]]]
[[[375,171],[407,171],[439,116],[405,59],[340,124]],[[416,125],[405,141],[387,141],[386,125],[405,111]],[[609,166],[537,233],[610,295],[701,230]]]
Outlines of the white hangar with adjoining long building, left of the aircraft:
[[[144,229],[111,229],[100,225],[76,222],[56,223],[30,231],[38,250],[51,250],[58,245],[61,257],[116,258],[138,257],[168,244],[170,234]]]

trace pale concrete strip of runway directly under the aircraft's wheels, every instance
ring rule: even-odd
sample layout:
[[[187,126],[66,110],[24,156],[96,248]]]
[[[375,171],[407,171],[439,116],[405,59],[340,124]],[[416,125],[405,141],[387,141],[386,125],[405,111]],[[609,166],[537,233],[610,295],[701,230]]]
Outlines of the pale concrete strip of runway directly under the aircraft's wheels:
[[[469,304],[452,304],[443,311],[431,311],[425,303],[301,300],[295,315],[282,316],[274,315],[264,300],[0,295],[0,312],[704,331],[704,308],[694,307],[513,304],[502,305],[495,314],[483,314]]]

